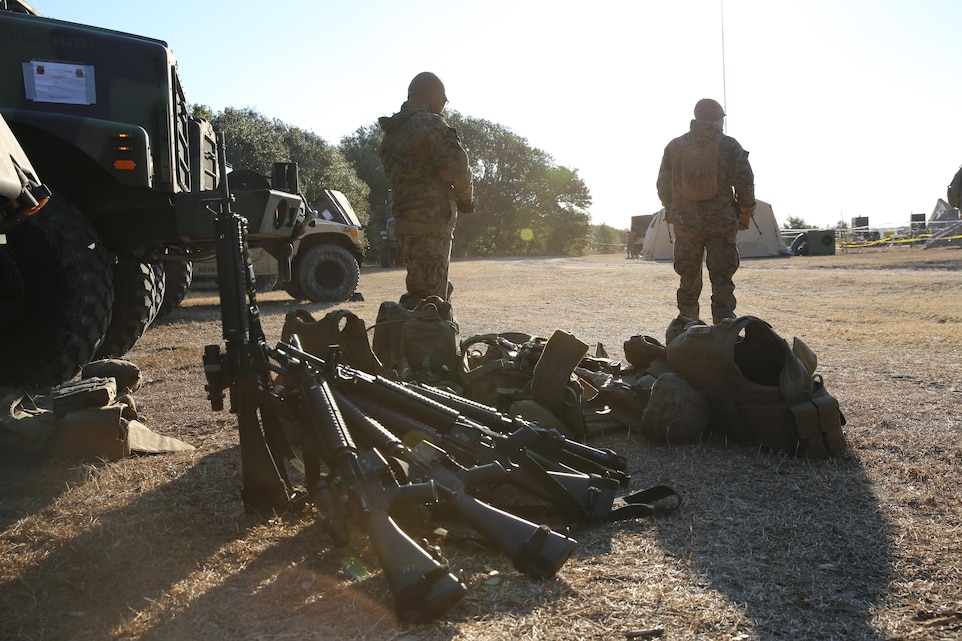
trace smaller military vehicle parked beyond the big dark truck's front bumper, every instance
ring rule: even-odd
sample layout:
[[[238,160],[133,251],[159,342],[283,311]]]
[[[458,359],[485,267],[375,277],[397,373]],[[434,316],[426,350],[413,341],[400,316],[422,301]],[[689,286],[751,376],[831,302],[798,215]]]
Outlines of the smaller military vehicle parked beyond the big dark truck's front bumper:
[[[254,276],[261,291],[283,287],[297,300],[314,303],[346,301],[357,289],[364,262],[364,230],[347,197],[325,189],[310,203],[313,215],[307,230],[294,242],[291,278],[279,280],[277,259],[261,249],[251,250]],[[217,261],[194,263],[194,278],[217,278]]]

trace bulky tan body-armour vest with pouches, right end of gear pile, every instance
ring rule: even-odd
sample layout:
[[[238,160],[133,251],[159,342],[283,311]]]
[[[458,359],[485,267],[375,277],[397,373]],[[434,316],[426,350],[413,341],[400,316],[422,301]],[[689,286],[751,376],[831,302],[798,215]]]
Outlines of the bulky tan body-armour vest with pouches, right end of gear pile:
[[[823,458],[844,453],[838,401],[785,339],[754,316],[690,325],[666,348],[668,363],[709,399],[733,440]]]

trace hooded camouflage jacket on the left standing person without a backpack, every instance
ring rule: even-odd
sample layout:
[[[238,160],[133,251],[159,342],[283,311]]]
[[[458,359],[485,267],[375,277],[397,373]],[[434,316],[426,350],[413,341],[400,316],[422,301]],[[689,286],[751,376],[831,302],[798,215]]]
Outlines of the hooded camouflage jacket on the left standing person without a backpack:
[[[450,238],[458,211],[473,208],[468,154],[457,131],[427,105],[408,100],[390,117],[379,153],[391,183],[398,234]]]

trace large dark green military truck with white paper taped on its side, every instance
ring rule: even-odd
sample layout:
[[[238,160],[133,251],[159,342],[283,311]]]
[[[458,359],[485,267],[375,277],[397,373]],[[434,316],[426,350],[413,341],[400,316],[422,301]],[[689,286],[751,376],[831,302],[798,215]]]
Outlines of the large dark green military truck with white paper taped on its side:
[[[52,386],[126,353],[186,293],[187,262],[214,254],[216,135],[165,42],[21,0],[0,2],[0,115],[53,192],[0,246],[0,386]],[[233,209],[286,262],[308,218],[296,171],[251,175],[227,179]]]

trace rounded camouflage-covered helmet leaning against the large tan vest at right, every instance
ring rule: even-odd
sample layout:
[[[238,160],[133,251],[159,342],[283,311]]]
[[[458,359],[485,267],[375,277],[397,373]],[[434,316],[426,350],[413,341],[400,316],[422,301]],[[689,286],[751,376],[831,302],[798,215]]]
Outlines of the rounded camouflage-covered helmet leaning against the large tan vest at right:
[[[708,397],[679,374],[668,372],[651,388],[641,417],[641,433],[651,441],[677,445],[701,436],[710,422]]]

